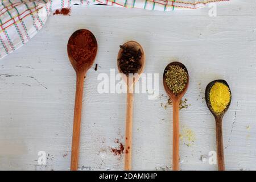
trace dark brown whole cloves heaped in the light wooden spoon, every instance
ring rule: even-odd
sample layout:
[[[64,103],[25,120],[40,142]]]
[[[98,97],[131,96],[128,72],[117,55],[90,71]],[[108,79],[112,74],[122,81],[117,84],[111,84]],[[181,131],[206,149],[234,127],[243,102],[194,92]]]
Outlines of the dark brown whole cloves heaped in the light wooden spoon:
[[[138,73],[139,69],[142,67],[141,49],[137,51],[134,47],[129,46],[120,46],[120,48],[122,49],[121,57],[117,61],[121,72],[126,76],[128,76],[129,73]]]

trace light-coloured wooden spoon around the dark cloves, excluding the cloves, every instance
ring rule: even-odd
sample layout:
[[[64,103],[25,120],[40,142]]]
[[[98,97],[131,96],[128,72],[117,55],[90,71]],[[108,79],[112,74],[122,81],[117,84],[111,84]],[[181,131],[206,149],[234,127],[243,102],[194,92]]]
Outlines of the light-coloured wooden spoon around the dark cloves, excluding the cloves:
[[[141,49],[141,69],[139,69],[138,74],[135,74],[134,76],[127,77],[125,74],[122,74],[123,80],[126,82],[127,85],[127,107],[126,107],[126,131],[125,131],[125,170],[130,171],[131,170],[131,141],[132,141],[132,128],[133,128],[133,90],[135,83],[139,80],[139,77],[144,69],[145,64],[145,56],[142,46],[135,42],[135,41],[129,41],[123,44],[123,46],[127,47],[134,47],[134,49],[138,50]],[[117,60],[122,56],[122,49],[119,50]],[[119,63],[117,61],[117,67],[119,73],[121,72],[121,69],[119,67]]]

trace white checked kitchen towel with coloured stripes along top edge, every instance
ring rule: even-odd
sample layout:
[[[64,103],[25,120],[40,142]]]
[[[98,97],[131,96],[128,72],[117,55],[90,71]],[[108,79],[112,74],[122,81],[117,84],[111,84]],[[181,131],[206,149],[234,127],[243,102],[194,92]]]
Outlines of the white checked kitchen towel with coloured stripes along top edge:
[[[2,0],[0,5],[0,59],[30,40],[53,10],[72,5],[96,5],[171,11],[197,9],[229,0]]]

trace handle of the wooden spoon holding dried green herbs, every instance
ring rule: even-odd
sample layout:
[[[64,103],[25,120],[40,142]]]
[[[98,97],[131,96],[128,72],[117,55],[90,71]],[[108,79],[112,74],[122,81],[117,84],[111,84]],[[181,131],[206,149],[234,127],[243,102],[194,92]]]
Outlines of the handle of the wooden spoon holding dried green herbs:
[[[172,136],[172,170],[179,171],[179,101],[172,101],[173,136]]]

